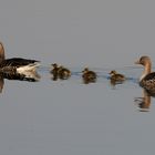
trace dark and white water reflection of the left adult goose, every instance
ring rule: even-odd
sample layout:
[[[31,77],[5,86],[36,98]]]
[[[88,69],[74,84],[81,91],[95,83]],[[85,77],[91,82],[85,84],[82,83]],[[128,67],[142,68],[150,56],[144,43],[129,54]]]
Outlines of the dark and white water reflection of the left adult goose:
[[[40,75],[37,72],[24,72],[24,74],[19,74],[14,72],[0,72],[0,93],[2,93],[4,79],[37,82],[40,80]]]

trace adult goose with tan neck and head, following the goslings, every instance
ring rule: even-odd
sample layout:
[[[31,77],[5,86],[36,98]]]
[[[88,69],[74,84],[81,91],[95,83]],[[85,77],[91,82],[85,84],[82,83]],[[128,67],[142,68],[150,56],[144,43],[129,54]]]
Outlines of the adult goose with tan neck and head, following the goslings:
[[[142,64],[144,71],[140,78],[140,85],[151,93],[155,92],[155,72],[152,72],[152,61],[149,56],[141,56],[136,64]]]

